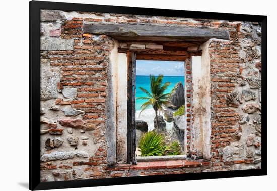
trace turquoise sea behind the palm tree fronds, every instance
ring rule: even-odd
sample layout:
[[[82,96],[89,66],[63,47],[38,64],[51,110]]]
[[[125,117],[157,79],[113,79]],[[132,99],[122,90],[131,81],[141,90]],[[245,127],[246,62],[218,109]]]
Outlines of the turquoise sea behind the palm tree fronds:
[[[184,76],[164,76],[163,83],[170,82],[171,84],[168,86],[165,93],[169,93],[174,85],[178,82],[182,82],[184,85]],[[146,94],[138,87],[143,87],[150,92],[150,77],[149,76],[136,76],[136,94],[135,97],[146,97]],[[142,104],[145,100],[136,100],[135,102],[135,110],[141,110]]]

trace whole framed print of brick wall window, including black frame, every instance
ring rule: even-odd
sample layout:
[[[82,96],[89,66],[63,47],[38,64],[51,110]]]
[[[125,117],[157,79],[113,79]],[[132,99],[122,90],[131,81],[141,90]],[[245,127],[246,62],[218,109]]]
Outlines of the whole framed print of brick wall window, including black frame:
[[[267,174],[266,16],[29,5],[31,190]]]

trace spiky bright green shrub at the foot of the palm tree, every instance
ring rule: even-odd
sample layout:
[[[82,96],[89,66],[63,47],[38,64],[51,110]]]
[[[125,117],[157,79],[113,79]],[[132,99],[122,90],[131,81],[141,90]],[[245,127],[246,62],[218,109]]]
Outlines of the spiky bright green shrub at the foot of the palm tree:
[[[150,131],[145,133],[138,144],[141,156],[162,156],[168,149],[163,135]]]

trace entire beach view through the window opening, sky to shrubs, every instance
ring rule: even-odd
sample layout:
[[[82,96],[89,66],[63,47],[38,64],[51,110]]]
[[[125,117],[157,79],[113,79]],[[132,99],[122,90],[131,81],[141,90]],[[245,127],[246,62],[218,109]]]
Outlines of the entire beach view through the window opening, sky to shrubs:
[[[136,156],[185,154],[184,61],[136,60],[135,86]]]

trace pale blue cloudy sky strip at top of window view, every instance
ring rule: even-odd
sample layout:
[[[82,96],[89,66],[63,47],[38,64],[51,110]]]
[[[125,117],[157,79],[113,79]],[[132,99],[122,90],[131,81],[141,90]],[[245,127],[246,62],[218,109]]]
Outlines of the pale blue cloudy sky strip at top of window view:
[[[185,66],[181,61],[136,60],[136,75],[184,76]]]

